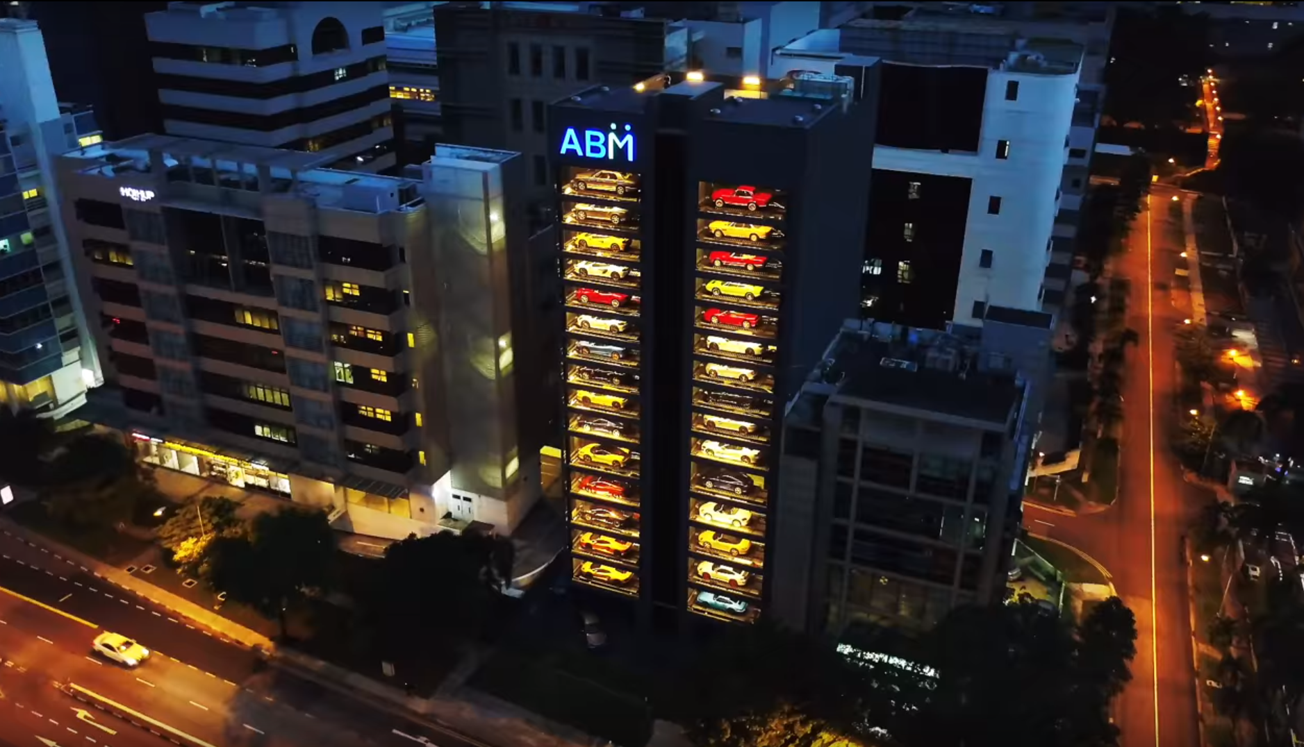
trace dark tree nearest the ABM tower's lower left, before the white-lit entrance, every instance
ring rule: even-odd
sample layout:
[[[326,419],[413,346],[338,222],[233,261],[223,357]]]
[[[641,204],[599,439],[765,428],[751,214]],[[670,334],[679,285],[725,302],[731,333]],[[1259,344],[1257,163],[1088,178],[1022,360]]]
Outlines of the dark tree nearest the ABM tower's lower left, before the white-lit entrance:
[[[409,536],[390,545],[357,600],[378,653],[429,654],[439,639],[469,643],[492,630],[512,557],[510,540],[479,533]],[[428,634],[395,640],[389,635],[395,627]]]

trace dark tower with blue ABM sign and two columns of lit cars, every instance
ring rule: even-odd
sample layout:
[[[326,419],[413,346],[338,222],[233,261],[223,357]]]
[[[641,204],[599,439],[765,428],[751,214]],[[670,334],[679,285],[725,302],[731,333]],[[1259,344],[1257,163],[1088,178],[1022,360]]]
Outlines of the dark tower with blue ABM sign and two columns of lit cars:
[[[664,74],[549,111],[572,578],[659,627],[767,608],[784,403],[859,295],[852,85]]]

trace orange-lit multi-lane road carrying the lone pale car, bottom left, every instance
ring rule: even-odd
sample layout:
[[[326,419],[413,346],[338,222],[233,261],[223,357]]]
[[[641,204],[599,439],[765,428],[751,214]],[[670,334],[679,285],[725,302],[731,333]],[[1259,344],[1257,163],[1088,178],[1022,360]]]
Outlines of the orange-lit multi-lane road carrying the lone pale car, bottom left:
[[[0,537],[0,744],[471,747],[269,667],[21,541]],[[154,654],[134,670],[100,660],[90,644],[102,630]]]

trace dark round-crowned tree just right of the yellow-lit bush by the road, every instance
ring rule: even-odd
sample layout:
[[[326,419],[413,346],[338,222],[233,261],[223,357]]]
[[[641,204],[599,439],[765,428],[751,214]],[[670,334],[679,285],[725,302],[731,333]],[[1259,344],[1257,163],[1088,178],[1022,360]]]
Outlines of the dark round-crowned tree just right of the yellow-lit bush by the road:
[[[329,588],[335,535],[323,511],[286,508],[259,514],[248,537],[223,536],[209,545],[202,575],[216,592],[273,617],[286,636],[286,611],[310,592]],[[409,588],[420,588],[420,585]]]

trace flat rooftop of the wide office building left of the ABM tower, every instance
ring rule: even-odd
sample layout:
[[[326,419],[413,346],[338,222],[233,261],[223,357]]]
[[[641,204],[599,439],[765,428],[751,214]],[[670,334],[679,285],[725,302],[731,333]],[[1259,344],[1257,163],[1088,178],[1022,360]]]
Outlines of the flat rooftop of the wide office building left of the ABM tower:
[[[322,207],[385,212],[406,207],[409,192],[415,196],[415,189],[407,190],[415,184],[408,179],[321,168],[334,159],[326,154],[166,134],[141,134],[64,154],[87,162],[81,173],[110,179],[150,175],[156,163],[154,156],[163,163],[168,181],[258,192],[259,171],[266,171],[269,192],[312,198]]]

